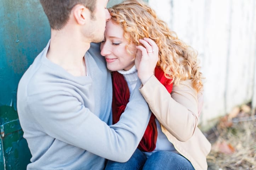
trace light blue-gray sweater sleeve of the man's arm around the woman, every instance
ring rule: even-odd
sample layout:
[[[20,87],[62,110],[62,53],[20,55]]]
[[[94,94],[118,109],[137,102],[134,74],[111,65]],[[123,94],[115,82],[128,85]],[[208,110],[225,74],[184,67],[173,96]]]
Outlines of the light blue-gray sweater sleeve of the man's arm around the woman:
[[[137,86],[120,121],[108,126],[79,100],[65,91],[49,91],[28,97],[29,111],[47,134],[98,156],[126,162],[147,127],[150,110]]]

